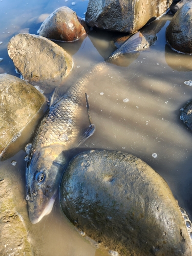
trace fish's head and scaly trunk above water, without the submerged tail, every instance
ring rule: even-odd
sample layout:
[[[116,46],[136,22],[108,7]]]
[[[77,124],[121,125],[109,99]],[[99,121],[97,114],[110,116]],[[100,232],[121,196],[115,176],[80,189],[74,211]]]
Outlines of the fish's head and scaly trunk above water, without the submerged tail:
[[[32,144],[26,168],[26,199],[29,217],[34,224],[52,210],[62,174],[69,161],[69,150],[95,131],[94,124],[90,124],[83,133],[79,128],[82,112],[79,88],[77,84],[50,106]]]

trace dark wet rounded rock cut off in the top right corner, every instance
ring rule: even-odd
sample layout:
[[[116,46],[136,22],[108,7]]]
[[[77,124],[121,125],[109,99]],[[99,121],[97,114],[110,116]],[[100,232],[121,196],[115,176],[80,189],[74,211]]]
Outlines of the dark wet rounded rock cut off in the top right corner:
[[[166,28],[166,40],[173,50],[192,53],[192,2],[179,9]]]

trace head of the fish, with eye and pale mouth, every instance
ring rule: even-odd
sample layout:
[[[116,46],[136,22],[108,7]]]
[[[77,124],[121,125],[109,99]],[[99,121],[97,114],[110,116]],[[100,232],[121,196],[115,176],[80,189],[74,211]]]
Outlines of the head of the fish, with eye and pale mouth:
[[[56,156],[53,148],[41,148],[29,160],[26,168],[26,200],[33,224],[50,214],[64,170],[65,157],[62,154]]]

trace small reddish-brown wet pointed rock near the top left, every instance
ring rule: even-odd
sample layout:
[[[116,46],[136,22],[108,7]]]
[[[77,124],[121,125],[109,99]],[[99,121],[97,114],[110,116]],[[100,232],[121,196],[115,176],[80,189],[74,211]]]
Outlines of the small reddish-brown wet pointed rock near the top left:
[[[86,22],[67,6],[56,9],[40,26],[38,33],[49,39],[75,41],[89,31]]]

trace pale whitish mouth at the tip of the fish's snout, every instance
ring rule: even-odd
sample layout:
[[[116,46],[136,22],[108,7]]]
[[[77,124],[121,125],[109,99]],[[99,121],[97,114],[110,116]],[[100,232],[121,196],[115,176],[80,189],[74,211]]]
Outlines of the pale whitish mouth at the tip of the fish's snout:
[[[38,214],[39,212],[34,214],[34,212],[30,211],[30,209],[29,209],[29,219],[30,219],[32,224],[38,223],[44,216],[50,214],[50,212],[52,211],[52,208],[53,208],[56,197],[57,197],[57,191],[51,197],[50,201],[47,203],[46,207],[44,208],[44,210],[42,210],[40,215]]]

